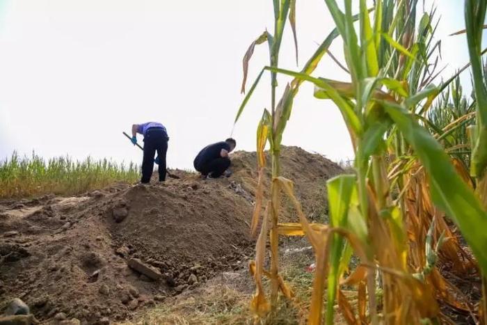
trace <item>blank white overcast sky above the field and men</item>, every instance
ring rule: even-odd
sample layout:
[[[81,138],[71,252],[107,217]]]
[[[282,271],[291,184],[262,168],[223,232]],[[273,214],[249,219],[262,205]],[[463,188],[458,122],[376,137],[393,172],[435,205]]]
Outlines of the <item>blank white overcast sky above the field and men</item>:
[[[297,2],[301,67],[333,24],[324,1]],[[468,61],[465,35],[447,37],[463,29],[463,1],[437,3],[449,76]],[[271,0],[0,0],[0,159],[35,150],[140,163],[122,131],[157,120],[170,136],[168,165],[192,168],[200,148],[230,136],[243,99],[241,59],[272,19]],[[289,26],[286,33],[280,67],[296,70]],[[340,42],[331,49],[342,57]],[[266,45],[256,47],[249,86],[268,60]],[[314,75],[347,79],[330,58]],[[266,77],[235,129],[237,150],[255,150],[269,106]],[[296,97],[283,143],[334,160],[353,155],[339,111],[315,100],[310,85]]]

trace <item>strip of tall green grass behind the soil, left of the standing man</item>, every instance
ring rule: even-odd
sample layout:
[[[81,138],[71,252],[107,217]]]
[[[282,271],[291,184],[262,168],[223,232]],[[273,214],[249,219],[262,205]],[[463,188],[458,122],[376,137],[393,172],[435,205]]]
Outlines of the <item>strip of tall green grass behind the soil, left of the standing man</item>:
[[[47,193],[76,195],[113,182],[136,182],[138,166],[108,159],[83,161],[68,156],[42,159],[35,152],[20,157],[13,152],[0,161],[0,198],[39,196]]]

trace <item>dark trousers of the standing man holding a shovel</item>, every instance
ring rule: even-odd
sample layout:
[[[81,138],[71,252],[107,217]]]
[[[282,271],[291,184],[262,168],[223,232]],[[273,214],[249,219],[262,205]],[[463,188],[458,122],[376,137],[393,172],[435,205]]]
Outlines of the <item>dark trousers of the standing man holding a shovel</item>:
[[[168,152],[168,135],[163,129],[148,129],[144,136],[144,157],[142,159],[141,183],[150,182],[154,170],[154,155],[159,157],[159,182],[166,180],[166,154]]]

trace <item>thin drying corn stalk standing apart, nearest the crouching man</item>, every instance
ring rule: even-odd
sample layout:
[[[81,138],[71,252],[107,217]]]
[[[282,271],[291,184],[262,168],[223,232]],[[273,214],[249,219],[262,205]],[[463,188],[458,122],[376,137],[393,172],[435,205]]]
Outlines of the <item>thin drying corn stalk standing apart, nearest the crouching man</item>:
[[[294,31],[294,42],[296,44],[296,62],[297,62],[297,40],[296,40],[296,30],[295,30],[295,6],[296,3],[291,1],[287,3],[287,1],[281,1],[280,5],[278,1],[273,1],[274,5],[274,12],[276,18],[276,33],[275,35],[279,35],[282,38],[282,30],[284,29],[285,22],[285,13],[281,13],[280,10],[287,10],[289,9],[289,21],[292,24],[292,29]],[[353,17],[353,20],[356,21],[358,16]],[[282,24],[278,23],[278,21],[282,22]],[[334,29],[325,39],[321,42],[318,49],[314,52],[313,56],[305,63],[301,72],[303,74],[310,74],[317,68],[319,61],[321,58],[326,54],[328,51],[328,47],[330,47],[331,43],[335,38],[338,36],[337,29]],[[277,63],[276,57],[277,54],[276,46],[274,45],[275,37],[273,37],[269,32],[265,31],[259,38],[257,38],[254,42],[251,43],[250,47],[248,48],[245,56],[244,56],[244,81],[242,83],[241,91],[244,93],[245,84],[247,79],[247,71],[248,71],[248,62],[253,54],[255,45],[262,44],[263,42],[267,41],[269,43],[269,51],[271,56],[271,67],[276,68],[276,65],[273,63]],[[280,44],[280,40],[279,40]],[[278,49],[279,47],[277,47]],[[242,102],[241,106],[239,107],[239,111],[237,112],[237,116],[235,118],[235,123],[239,120],[241,113],[243,113],[244,108],[250,100],[255,87],[260,81],[262,74],[264,73],[266,68],[262,69],[260,74],[258,75],[257,79],[255,80],[254,84],[251,86],[250,90],[248,91],[244,101]],[[256,204],[255,209],[253,212],[252,217],[252,225],[251,233],[255,234],[257,230],[257,225],[260,222],[260,214],[263,205],[263,179],[264,179],[264,166],[266,164],[266,159],[264,155],[264,148],[266,147],[266,143],[269,142],[271,157],[272,157],[272,177],[273,180],[276,180],[280,175],[280,162],[279,162],[279,155],[280,155],[280,145],[282,140],[282,133],[285,130],[287,120],[292,112],[292,105],[294,97],[297,95],[299,87],[303,83],[302,79],[295,78],[290,84],[287,84],[284,93],[280,101],[278,102],[277,106],[274,107],[275,104],[275,93],[276,93],[276,72],[271,72],[271,112],[267,109],[264,109],[264,113],[262,114],[262,118],[260,120],[259,126],[257,127],[257,166],[259,166],[259,179],[257,183],[257,196],[256,196]],[[269,312],[269,310],[276,307],[277,299],[278,299],[278,291],[282,292],[287,298],[291,299],[293,296],[292,290],[289,290],[289,287],[284,283],[280,275],[278,274],[278,236],[279,235],[303,235],[303,230],[301,229],[301,225],[298,223],[279,223],[278,221],[278,214],[280,208],[280,183],[279,182],[271,182],[271,198],[269,203],[267,203],[267,208],[264,213],[264,218],[262,219],[262,226],[261,232],[259,235],[259,239],[257,240],[256,245],[256,258],[255,262],[251,263],[250,269],[253,271],[255,277],[255,283],[257,285],[257,290],[253,301],[251,303],[251,310],[255,312],[255,315],[258,317],[264,317],[264,315]],[[269,227],[267,227],[267,219],[270,219]],[[265,225],[265,227],[264,227]],[[270,229],[268,229],[270,228]],[[267,232],[269,230],[269,238],[271,241],[271,269],[270,271],[265,271],[263,269],[264,264],[264,251],[265,251],[265,243],[267,238]],[[271,304],[267,301],[264,290],[262,287],[262,276],[266,275],[271,279]]]

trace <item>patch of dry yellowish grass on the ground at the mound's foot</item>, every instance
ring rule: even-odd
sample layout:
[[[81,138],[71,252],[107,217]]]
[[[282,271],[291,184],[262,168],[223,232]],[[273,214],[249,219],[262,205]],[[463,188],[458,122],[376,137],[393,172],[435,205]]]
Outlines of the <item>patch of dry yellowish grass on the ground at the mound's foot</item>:
[[[301,248],[308,245],[297,239],[288,248]],[[260,319],[257,324],[303,324],[309,308],[314,274],[306,271],[314,258],[311,254],[285,253],[281,248],[281,274],[285,281],[295,289],[294,301],[283,297],[276,307],[276,317]],[[267,261],[269,262],[269,261]],[[248,301],[254,289],[253,279],[246,270],[238,272],[237,279],[224,280],[216,277],[191,292],[167,299],[127,324],[254,324]],[[264,280],[264,288],[269,290],[270,281]],[[337,323],[342,322],[336,315]]]

